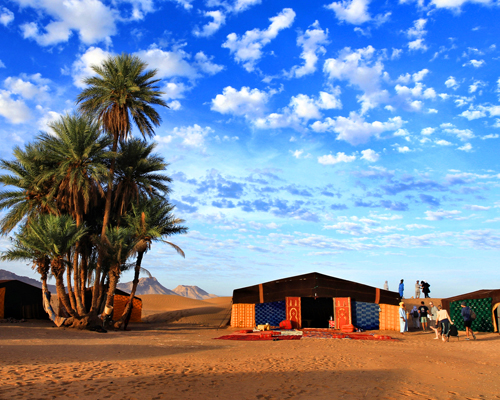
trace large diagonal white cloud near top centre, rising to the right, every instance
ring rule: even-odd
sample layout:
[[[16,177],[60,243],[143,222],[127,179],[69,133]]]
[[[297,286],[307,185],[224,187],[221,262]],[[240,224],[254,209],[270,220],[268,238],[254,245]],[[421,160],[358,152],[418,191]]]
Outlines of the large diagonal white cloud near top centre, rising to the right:
[[[234,54],[236,62],[251,72],[255,64],[262,58],[262,48],[278,36],[278,33],[289,28],[295,19],[295,12],[285,8],[277,16],[270,18],[271,24],[266,30],[253,29],[245,32],[240,38],[236,33],[230,33],[222,47]]]

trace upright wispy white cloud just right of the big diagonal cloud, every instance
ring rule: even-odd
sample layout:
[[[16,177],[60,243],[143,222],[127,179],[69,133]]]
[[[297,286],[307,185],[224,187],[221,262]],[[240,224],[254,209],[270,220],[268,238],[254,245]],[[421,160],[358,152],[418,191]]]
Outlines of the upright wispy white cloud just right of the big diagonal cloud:
[[[319,22],[315,21],[305,33],[297,38],[297,45],[302,47],[300,58],[304,60],[304,64],[300,67],[293,67],[287,75],[301,78],[316,71],[318,54],[326,52],[324,44],[328,44],[328,29],[321,29]]]

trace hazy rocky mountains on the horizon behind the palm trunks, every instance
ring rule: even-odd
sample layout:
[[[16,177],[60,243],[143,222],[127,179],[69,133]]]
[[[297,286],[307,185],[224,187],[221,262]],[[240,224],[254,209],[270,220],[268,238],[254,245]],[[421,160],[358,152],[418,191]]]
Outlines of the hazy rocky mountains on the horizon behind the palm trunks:
[[[27,283],[29,285],[33,285],[41,288],[42,282],[28,278],[27,276],[19,276],[13,272],[7,271],[5,269],[0,269],[0,281],[2,280],[13,280],[16,279],[18,281]],[[48,285],[48,288],[51,293],[56,293],[55,285]],[[130,293],[132,290],[132,282],[119,283],[118,289],[121,289],[127,293]],[[160,282],[157,281],[156,278],[140,278],[139,284],[137,285],[136,295],[142,294],[173,294],[177,296],[189,297],[190,299],[196,300],[206,300],[212,299],[214,297],[218,297],[215,294],[210,294],[205,292],[203,289],[200,289],[198,286],[186,286],[179,285],[174,290],[167,289]]]

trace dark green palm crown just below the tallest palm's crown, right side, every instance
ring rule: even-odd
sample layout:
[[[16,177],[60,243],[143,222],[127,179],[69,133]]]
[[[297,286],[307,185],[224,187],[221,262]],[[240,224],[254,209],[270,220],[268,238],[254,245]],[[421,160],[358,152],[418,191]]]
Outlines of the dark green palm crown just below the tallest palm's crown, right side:
[[[168,164],[153,153],[156,143],[140,139],[121,141],[116,160],[114,205],[118,216],[125,214],[131,204],[139,204],[146,197],[170,193],[172,181],[164,171]]]

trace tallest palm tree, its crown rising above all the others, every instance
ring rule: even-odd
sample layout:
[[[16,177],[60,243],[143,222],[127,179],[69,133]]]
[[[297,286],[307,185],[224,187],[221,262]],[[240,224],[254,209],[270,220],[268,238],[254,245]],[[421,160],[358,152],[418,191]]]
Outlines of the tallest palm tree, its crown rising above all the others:
[[[113,138],[112,151],[116,152],[119,140],[128,138],[135,124],[144,138],[154,135],[154,126],[159,126],[160,115],[152,107],[168,107],[158,90],[159,79],[154,79],[157,71],[146,71],[147,64],[130,54],[107,58],[101,66],[92,66],[97,76],[84,80],[88,85],[77,97],[79,110],[96,119]],[[101,236],[106,236],[106,228],[111,214],[115,160],[109,167],[106,205],[104,209]],[[102,257],[99,256],[96,268],[92,310],[95,312],[99,288],[97,283],[102,269]]]

